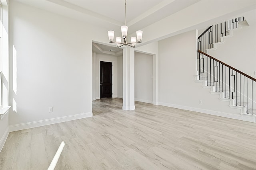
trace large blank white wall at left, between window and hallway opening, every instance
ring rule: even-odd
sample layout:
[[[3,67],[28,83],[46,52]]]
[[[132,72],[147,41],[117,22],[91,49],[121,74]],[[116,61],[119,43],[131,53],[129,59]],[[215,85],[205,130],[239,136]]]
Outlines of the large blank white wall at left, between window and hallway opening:
[[[17,52],[10,130],[91,116],[92,37],[103,42],[106,30],[16,1],[10,1],[9,30],[11,71]]]

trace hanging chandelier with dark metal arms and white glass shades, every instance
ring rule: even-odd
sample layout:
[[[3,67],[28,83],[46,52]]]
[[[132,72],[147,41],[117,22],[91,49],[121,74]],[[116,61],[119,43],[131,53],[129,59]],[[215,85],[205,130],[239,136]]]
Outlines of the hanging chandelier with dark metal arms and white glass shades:
[[[137,35],[137,40],[136,41],[136,37],[131,37],[131,42],[128,43],[126,40],[126,36],[127,36],[127,31],[128,31],[128,27],[126,26],[126,0],[125,0],[125,25],[121,26],[121,32],[122,32],[122,37],[116,37],[116,42],[113,41],[114,39],[114,31],[108,31],[108,39],[110,43],[116,43],[117,47],[122,47],[124,46],[130,46],[130,47],[135,47],[136,43],[141,43],[142,40],[142,33],[143,31],[139,30],[136,31],[136,35]],[[122,41],[122,38],[124,39],[124,42]]]

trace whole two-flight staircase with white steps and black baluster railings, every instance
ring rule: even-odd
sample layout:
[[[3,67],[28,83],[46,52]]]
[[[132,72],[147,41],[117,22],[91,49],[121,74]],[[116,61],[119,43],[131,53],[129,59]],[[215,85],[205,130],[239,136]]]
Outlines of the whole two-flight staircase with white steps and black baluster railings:
[[[244,17],[212,25],[198,37],[198,62],[195,81],[211,94],[228,101],[229,106],[240,109],[240,114],[254,117],[256,121],[256,79],[209,55],[216,46],[230,38],[233,31],[246,24]]]

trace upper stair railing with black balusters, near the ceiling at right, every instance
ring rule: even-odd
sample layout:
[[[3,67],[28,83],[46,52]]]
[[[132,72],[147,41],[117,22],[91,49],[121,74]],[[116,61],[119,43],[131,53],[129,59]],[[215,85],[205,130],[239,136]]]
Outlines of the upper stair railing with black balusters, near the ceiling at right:
[[[198,37],[198,50],[206,53],[206,49],[214,48],[214,43],[221,41],[221,37],[230,35],[230,30],[238,28],[238,22],[244,21],[244,17],[238,17],[216,25],[208,27]]]

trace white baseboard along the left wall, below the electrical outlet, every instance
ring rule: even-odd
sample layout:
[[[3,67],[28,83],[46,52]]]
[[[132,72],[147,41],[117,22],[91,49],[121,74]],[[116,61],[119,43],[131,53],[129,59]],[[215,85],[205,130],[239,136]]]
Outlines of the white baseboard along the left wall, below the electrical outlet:
[[[53,119],[46,119],[46,120],[40,120],[40,121],[33,121],[33,122],[28,122],[28,123],[21,123],[21,124],[17,124],[17,125],[10,125],[9,129],[10,129],[10,132],[13,132],[13,131],[19,131],[19,130],[29,129],[29,128],[33,128],[33,127],[40,127],[40,126],[51,125],[51,124],[55,124],[55,123],[61,123],[64,121],[82,119],[82,118],[86,118],[86,117],[92,117],[92,112],[57,117],[57,118],[53,118]]]

